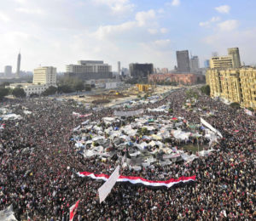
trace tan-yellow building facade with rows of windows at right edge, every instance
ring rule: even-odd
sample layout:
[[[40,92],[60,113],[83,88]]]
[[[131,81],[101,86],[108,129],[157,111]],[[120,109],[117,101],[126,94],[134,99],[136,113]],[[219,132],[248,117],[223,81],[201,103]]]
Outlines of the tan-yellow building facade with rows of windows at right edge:
[[[212,97],[240,103],[256,110],[256,69],[207,70],[207,84]]]

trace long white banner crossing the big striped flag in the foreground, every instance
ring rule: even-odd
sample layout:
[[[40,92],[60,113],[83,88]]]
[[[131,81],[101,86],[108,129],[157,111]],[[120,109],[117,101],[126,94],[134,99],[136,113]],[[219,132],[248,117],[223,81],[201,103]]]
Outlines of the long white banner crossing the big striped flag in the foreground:
[[[108,194],[111,192],[114,184],[118,180],[118,178],[119,178],[119,168],[120,168],[119,166],[116,167],[114,172],[107,179],[106,183],[102,184],[102,186],[99,188],[98,193],[99,193],[99,197],[100,197],[100,203],[102,203],[102,201],[105,201]]]

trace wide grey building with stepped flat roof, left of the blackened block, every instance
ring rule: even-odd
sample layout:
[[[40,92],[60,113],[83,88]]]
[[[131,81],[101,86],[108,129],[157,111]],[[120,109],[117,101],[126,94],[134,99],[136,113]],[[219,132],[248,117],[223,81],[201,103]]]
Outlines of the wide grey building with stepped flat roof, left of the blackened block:
[[[112,78],[111,65],[102,60],[79,60],[78,65],[67,65],[65,77],[76,77],[83,81]]]

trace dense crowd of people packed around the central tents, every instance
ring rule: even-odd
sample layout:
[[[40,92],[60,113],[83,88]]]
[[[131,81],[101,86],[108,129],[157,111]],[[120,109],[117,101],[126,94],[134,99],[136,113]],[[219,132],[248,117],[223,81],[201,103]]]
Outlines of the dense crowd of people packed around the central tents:
[[[203,111],[183,109],[185,89],[179,89],[154,104],[131,110],[155,108],[170,103],[175,116],[200,123]],[[206,116],[224,138],[214,144],[216,151],[189,164],[177,163],[124,175],[154,180],[196,176],[196,181],[166,189],[149,189],[131,184],[115,184],[106,201],[99,203],[102,185],[75,172],[113,172],[117,161],[85,159],[77,154],[73,128],[87,116],[91,122],[113,116],[113,109],[85,110],[72,101],[56,99],[10,100],[1,104],[22,119],[2,121],[0,131],[0,210],[13,204],[18,220],[67,220],[68,209],[80,200],[74,220],[252,220],[255,212],[256,119],[242,110],[200,95],[195,107],[214,111]],[[24,110],[32,111],[25,114]],[[119,110],[124,110],[119,108]],[[162,113],[164,114],[164,113]],[[157,116],[159,113],[150,112]],[[170,114],[166,114],[166,117]],[[170,116],[171,117],[171,116]],[[176,143],[175,143],[176,144]]]

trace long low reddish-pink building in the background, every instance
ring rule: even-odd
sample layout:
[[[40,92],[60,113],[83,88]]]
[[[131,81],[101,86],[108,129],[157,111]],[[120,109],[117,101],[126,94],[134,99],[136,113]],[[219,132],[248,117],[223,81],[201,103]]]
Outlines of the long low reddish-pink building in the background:
[[[149,82],[177,82],[179,84],[193,85],[205,82],[205,76],[196,74],[154,74],[149,76]]]

